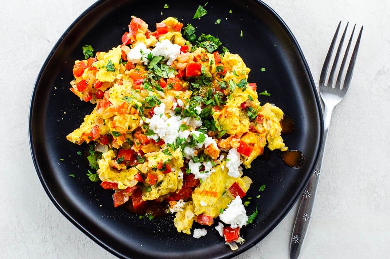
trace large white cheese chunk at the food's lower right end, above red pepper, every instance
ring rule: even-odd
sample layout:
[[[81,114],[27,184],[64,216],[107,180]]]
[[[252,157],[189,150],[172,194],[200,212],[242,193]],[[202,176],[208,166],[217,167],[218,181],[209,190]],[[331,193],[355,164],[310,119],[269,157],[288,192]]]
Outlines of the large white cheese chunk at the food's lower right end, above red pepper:
[[[242,205],[242,200],[239,196],[227,205],[227,209],[219,215],[219,219],[226,224],[231,225],[231,228],[246,226],[248,216],[246,216],[245,207]]]

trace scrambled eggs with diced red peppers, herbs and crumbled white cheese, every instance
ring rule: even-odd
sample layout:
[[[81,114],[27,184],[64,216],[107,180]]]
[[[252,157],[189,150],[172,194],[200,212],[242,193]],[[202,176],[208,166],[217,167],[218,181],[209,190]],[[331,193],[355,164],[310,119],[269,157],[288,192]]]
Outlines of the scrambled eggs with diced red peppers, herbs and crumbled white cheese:
[[[85,46],[70,90],[95,108],[67,139],[94,143],[88,159],[102,188],[114,190],[115,207],[154,216],[150,208],[166,204],[178,232],[216,225],[235,247],[253,221],[242,201],[252,183],[242,165],[250,168],[266,146],[287,150],[283,112],[260,104],[238,54],[194,33],[172,17],[155,31],[132,17],[121,45],[94,56]],[[192,232],[200,238],[207,228]]]

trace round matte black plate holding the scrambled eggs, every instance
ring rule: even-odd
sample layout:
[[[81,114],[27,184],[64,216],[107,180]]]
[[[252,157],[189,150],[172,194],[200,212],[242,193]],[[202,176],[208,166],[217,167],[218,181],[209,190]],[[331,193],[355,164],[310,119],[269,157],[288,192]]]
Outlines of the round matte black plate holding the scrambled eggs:
[[[169,8],[165,9],[164,4]],[[205,4],[205,3],[201,3]],[[307,63],[291,31],[267,5],[253,0],[208,1],[207,15],[192,16],[199,1],[98,1],[66,30],[45,61],[36,81],[30,108],[30,145],[35,167],[55,206],[87,236],[119,257],[225,258],[235,256],[263,239],[287,214],[307,183],[317,160],[322,138],[320,105]],[[229,13],[232,10],[232,13]],[[301,150],[300,169],[284,165],[273,154],[257,159],[245,170],[254,183],[246,197],[253,197],[248,214],[258,202],[254,224],[241,230],[246,242],[231,251],[213,228],[200,239],[179,234],[171,217],[149,222],[112,205],[112,193],[86,177],[88,168],[77,151],[86,148],[68,142],[65,136],[82,122],[93,105],[81,102],[69,91],[74,60],[83,59],[81,47],[108,51],[121,43],[131,15],[142,18],[154,30],[168,16],[192,23],[201,32],[218,36],[232,52],[241,55],[252,69],[249,82],[270,97],[295,120],[295,131],[284,137],[290,149]],[[226,19],[227,18],[227,19]],[[183,20],[182,20],[183,19]],[[221,19],[219,25],[215,24]],[[242,36],[240,36],[242,30]],[[266,68],[260,72],[260,68]],[[75,174],[75,178],[69,174]],[[264,192],[258,188],[266,184]],[[256,196],[261,194],[261,198]],[[197,226],[194,226],[197,227]]]

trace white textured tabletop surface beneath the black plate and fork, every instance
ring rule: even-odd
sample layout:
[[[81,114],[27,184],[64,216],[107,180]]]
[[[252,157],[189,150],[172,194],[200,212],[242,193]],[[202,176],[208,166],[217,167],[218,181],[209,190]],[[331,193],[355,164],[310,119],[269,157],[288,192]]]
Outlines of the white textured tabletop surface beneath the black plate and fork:
[[[93,1],[0,2],[0,258],[113,258],[45,194],[28,145],[28,109],[41,65]],[[335,109],[315,211],[300,258],[390,254],[390,4],[269,0],[298,40],[315,82],[338,21],[364,25],[350,90]],[[296,206],[238,258],[287,258]]]

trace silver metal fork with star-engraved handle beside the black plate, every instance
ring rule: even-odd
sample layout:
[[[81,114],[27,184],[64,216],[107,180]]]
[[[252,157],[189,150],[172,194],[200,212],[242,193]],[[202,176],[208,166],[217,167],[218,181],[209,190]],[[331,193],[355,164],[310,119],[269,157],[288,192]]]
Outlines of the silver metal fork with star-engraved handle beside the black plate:
[[[292,231],[291,242],[290,242],[290,258],[291,259],[298,258],[300,250],[301,250],[302,245],[303,245],[304,238],[305,238],[306,233],[307,233],[309,223],[311,221],[311,217],[312,217],[311,215],[312,215],[312,210],[313,210],[313,206],[314,206],[314,199],[315,199],[315,194],[316,194],[316,190],[318,187],[319,176],[321,174],[323,154],[325,151],[326,139],[327,139],[328,129],[330,126],[330,120],[331,120],[333,108],[345,96],[345,94],[348,90],[350,81],[352,79],[353,68],[354,68],[354,65],[356,62],[356,56],[357,56],[357,52],[358,52],[359,45],[360,45],[360,39],[361,39],[361,34],[363,32],[363,26],[361,27],[359,36],[357,37],[355,48],[354,48],[352,56],[350,58],[349,66],[348,66],[348,69],[346,71],[346,75],[344,78],[343,87],[341,88],[341,82],[343,79],[342,73],[343,73],[345,64],[347,62],[348,52],[349,52],[349,49],[350,49],[350,46],[352,43],[353,33],[355,31],[356,24],[353,27],[348,45],[345,49],[345,54],[344,54],[344,57],[342,59],[341,65],[339,67],[339,73],[337,76],[336,83],[335,83],[335,85],[333,84],[334,76],[335,76],[335,72],[336,72],[336,67],[337,67],[338,59],[339,59],[339,56],[341,53],[345,34],[346,34],[346,31],[348,28],[348,24],[349,24],[349,22],[346,24],[344,33],[341,36],[341,40],[340,40],[340,43],[338,45],[338,49],[337,49],[337,52],[336,52],[336,55],[334,58],[333,66],[330,70],[330,75],[329,75],[327,85],[325,85],[326,75],[328,72],[329,65],[331,63],[331,57],[333,54],[333,49],[336,45],[335,42],[336,42],[337,35],[338,35],[339,29],[341,26],[341,21],[338,24],[337,30],[333,36],[329,51],[326,55],[326,59],[325,59],[325,62],[323,64],[323,67],[322,67],[321,75],[319,78],[319,93],[320,93],[321,99],[322,99],[323,104],[324,104],[323,143],[322,143],[321,151],[319,154],[319,159],[315,165],[315,170],[310,177],[310,180],[308,182],[307,187],[303,191],[303,195],[302,195],[302,198],[301,198],[301,201],[299,204],[298,212],[297,212],[297,215],[295,218],[295,225],[294,225],[294,229]]]

